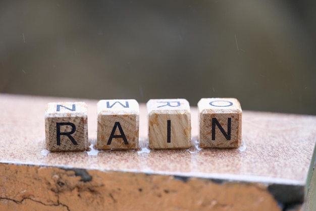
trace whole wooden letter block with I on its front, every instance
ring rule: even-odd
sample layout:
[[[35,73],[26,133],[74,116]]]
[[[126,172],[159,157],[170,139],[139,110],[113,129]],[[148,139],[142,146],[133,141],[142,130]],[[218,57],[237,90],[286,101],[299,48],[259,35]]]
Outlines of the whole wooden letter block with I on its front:
[[[147,102],[149,147],[191,147],[191,112],[186,99],[150,99]]]

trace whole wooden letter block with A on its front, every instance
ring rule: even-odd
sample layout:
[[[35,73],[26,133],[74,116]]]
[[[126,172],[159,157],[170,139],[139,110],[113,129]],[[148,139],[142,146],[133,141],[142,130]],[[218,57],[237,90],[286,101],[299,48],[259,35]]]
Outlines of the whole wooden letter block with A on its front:
[[[138,149],[139,105],[135,99],[100,100],[97,103],[98,150]]]

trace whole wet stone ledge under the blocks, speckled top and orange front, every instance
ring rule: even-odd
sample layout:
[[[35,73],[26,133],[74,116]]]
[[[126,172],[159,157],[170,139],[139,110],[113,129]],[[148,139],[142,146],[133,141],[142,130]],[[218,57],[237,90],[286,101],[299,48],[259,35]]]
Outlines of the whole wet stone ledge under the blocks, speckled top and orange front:
[[[97,100],[80,99],[90,149],[49,152],[45,105],[78,99],[0,101],[0,210],[315,210],[314,116],[243,111],[240,148],[200,149],[191,107],[192,147],[150,150],[140,104],[141,150],[97,151]]]

